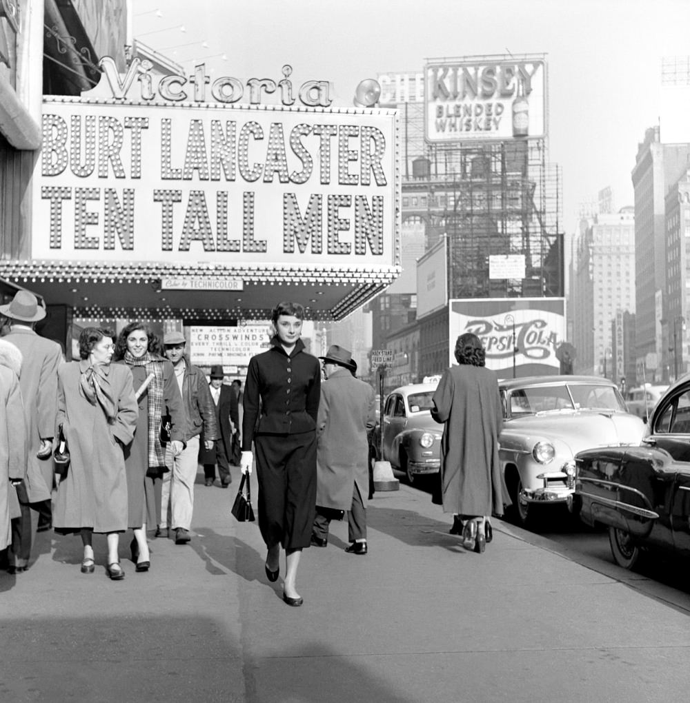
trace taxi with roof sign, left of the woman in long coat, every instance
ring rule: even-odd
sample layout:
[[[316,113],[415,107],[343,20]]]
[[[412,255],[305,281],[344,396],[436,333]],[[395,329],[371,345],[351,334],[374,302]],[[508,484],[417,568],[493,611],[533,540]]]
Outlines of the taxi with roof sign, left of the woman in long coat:
[[[384,403],[380,426],[372,433],[377,460],[389,461],[413,483],[439,472],[443,425],[431,416],[437,383],[415,383],[391,392]],[[381,428],[383,453],[381,451]]]

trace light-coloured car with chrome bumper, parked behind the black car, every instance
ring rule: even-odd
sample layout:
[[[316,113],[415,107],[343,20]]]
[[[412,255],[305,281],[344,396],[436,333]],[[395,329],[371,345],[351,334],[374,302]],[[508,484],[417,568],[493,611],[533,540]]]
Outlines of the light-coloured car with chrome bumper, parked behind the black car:
[[[542,505],[567,505],[575,490],[575,454],[639,444],[645,426],[626,411],[615,383],[596,376],[502,380],[501,466],[511,512],[526,525]]]

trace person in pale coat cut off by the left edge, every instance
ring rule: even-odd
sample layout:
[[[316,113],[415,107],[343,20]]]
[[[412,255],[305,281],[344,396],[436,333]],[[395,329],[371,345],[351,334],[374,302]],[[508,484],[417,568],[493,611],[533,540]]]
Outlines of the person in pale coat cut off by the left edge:
[[[19,388],[21,368],[22,353],[11,342],[0,340],[0,562],[2,568],[13,574],[27,569],[10,565],[8,559],[13,532],[21,527],[19,499],[26,493],[26,425]],[[25,529],[30,529],[30,525]]]

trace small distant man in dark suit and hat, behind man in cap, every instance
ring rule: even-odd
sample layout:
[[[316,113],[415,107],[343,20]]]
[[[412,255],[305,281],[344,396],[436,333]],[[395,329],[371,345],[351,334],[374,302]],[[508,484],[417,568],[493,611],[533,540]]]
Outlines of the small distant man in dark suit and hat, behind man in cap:
[[[213,449],[202,449],[203,475],[207,486],[213,486],[215,481],[215,465],[218,464],[220,486],[227,488],[232,483],[230,475],[230,458],[232,457],[232,441],[239,428],[239,413],[237,412],[237,394],[232,387],[223,383],[225,373],[222,366],[211,366],[211,382],[209,388],[215,403],[215,419],[218,420],[220,438],[215,440]]]

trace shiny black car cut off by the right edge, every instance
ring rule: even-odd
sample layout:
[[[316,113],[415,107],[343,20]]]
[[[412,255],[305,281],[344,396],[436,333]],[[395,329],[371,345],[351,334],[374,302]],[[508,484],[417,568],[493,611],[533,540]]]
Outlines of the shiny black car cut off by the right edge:
[[[608,527],[617,565],[632,569],[641,550],[690,555],[690,375],[658,401],[639,446],[582,451],[573,507]]]

